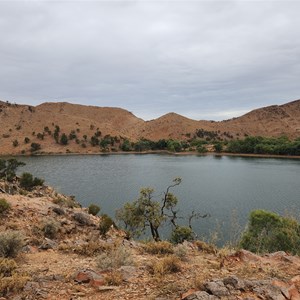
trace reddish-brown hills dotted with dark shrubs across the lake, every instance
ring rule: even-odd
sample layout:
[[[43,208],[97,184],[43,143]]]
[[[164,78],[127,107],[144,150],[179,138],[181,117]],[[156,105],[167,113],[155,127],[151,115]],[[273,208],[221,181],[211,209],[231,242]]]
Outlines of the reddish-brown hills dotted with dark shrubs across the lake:
[[[175,113],[144,121],[121,108],[70,103],[33,107],[0,102],[0,124],[0,154],[30,154],[31,143],[40,144],[44,153],[98,153],[99,147],[90,143],[93,136],[100,140],[108,137],[112,144],[120,145],[126,139],[184,140],[199,129],[217,132],[221,139],[246,135],[296,138],[300,136],[300,100],[259,108],[220,122],[195,121]],[[67,145],[53,138],[57,126],[59,137],[63,133],[73,136]]]

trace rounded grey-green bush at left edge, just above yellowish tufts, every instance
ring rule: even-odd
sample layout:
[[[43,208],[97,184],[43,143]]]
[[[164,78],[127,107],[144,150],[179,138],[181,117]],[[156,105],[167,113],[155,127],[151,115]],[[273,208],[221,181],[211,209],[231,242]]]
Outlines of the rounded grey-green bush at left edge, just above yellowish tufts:
[[[23,237],[18,231],[0,233],[0,256],[16,257],[23,247]]]

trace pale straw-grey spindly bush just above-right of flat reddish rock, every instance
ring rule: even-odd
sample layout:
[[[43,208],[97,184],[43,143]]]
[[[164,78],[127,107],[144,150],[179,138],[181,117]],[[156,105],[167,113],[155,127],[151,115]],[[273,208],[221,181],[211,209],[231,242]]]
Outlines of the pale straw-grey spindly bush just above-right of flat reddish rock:
[[[100,254],[97,257],[97,266],[101,270],[117,269],[133,264],[131,253],[124,247],[117,247],[111,251]]]

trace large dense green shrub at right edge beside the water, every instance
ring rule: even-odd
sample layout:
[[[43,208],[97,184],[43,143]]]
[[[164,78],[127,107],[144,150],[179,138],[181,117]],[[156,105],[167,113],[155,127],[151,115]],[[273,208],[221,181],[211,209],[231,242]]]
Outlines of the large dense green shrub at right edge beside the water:
[[[275,213],[254,210],[250,214],[247,230],[240,246],[257,253],[288,251],[300,253],[300,224]]]

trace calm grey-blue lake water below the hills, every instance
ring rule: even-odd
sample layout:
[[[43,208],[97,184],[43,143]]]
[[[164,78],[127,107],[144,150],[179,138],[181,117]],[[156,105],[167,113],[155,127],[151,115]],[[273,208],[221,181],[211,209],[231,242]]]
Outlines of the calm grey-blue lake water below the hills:
[[[116,209],[138,197],[141,187],[156,195],[175,177],[182,184],[172,191],[182,216],[192,211],[210,218],[193,223],[197,234],[219,232],[221,241],[244,227],[249,212],[266,209],[299,216],[300,160],[236,156],[74,155],[19,157],[28,171],[59,192],[74,195],[83,205],[100,205],[114,216]],[[164,231],[166,237],[167,232]]]

